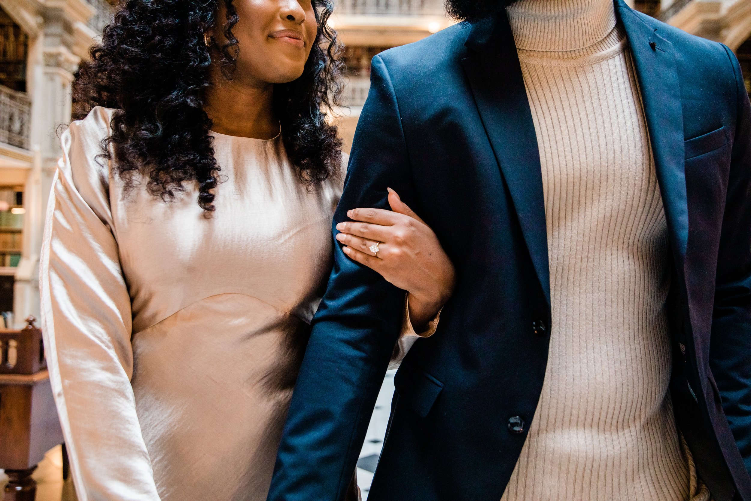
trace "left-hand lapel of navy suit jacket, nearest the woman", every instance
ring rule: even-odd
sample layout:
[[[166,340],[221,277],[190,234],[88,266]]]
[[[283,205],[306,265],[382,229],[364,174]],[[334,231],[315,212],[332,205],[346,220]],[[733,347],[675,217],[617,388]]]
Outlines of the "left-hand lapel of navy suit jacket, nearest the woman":
[[[462,59],[493,153],[514,201],[529,256],[550,306],[540,155],[505,12],[472,26]]]

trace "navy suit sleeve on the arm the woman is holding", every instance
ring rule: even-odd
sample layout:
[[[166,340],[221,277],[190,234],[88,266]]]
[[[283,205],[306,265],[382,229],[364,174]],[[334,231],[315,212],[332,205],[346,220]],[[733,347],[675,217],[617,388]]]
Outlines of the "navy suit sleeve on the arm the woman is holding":
[[[355,207],[388,209],[388,187],[412,204],[396,95],[385,63],[375,56],[333,227]],[[342,499],[400,335],[403,309],[404,291],[335,245],[279,445],[270,501]]]

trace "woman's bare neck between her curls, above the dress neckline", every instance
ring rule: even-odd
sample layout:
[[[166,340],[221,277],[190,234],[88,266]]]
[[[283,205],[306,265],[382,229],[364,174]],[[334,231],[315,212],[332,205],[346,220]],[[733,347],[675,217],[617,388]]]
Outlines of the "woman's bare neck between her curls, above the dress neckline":
[[[270,139],[279,134],[279,119],[273,112],[273,84],[246,83],[213,75],[204,110],[219,134]]]

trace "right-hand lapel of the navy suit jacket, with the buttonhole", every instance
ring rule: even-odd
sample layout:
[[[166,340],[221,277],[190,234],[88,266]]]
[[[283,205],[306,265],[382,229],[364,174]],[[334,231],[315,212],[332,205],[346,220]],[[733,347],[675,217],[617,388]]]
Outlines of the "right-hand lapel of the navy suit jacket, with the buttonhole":
[[[683,110],[674,48],[623,0],[617,0],[616,11],[626,29],[634,57],[671,247],[679,270],[683,271],[689,237],[689,208],[683,155]]]

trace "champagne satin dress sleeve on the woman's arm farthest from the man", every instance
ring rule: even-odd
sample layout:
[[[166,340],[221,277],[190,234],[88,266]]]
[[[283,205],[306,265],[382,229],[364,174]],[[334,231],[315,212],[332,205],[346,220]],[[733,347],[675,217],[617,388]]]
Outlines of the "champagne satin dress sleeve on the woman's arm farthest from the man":
[[[131,299],[112,232],[109,116],[73,122],[47,205],[40,260],[50,380],[80,501],[158,501],[131,387]],[[116,454],[108,452],[116,451]]]

